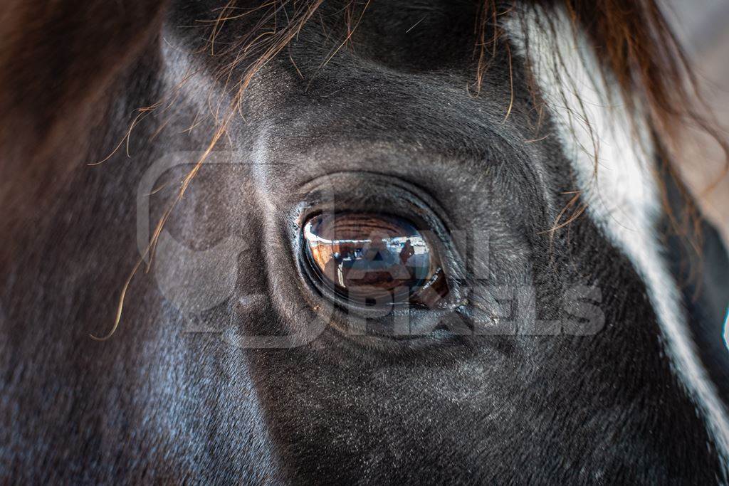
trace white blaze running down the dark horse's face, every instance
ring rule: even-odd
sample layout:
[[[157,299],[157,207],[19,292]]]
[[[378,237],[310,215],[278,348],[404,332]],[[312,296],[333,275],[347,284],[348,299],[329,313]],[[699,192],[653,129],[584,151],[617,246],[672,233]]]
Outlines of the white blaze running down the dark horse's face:
[[[510,39],[532,63],[539,90],[589,204],[590,219],[641,275],[666,354],[706,421],[726,469],[726,410],[696,353],[679,289],[668,273],[658,241],[660,194],[652,175],[655,152],[647,125],[633,122],[615,87],[605,85],[595,52],[583,33],[575,34],[564,12],[555,17],[554,35],[540,26],[536,12],[525,15],[526,22],[513,18],[507,24]]]

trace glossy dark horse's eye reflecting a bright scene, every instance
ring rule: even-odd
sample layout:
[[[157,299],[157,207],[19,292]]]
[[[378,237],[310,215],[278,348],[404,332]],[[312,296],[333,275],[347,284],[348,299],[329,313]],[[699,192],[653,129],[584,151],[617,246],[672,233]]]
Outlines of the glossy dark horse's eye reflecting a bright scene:
[[[447,286],[427,233],[394,216],[319,215],[304,225],[304,251],[319,284],[348,302],[435,307]]]

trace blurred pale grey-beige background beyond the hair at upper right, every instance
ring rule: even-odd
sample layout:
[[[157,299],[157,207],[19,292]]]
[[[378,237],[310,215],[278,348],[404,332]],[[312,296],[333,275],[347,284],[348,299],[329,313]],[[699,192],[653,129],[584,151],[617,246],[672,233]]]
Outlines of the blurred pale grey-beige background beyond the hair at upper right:
[[[701,93],[729,139],[729,0],[664,0],[701,80]],[[729,174],[716,142],[689,130],[683,141],[683,176],[706,216],[729,243]],[[712,189],[713,186],[713,189]]]

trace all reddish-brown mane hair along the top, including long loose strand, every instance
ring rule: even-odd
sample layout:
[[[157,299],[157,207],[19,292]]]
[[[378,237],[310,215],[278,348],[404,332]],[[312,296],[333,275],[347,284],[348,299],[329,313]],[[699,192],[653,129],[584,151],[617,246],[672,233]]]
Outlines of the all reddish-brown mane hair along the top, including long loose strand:
[[[670,155],[677,147],[671,144],[687,125],[711,134],[729,154],[710,111],[701,103],[695,74],[658,0],[482,1],[474,20],[475,93],[487,75],[488,61],[499,48],[504,20],[520,9],[538,9],[548,26],[550,15],[560,8],[568,12],[575,31],[587,34],[601,61],[601,75],[617,83],[631,114],[648,118],[662,142],[660,148],[666,151],[666,160],[674,160]],[[185,179],[177,200],[241,110],[246,88],[257,71],[295,39],[323,3],[278,0],[250,7],[250,1],[230,0],[218,9],[217,18],[208,23],[209,50],[197,54],[230,55],[230,62],[223,63],[218,73],[222,79],[230,79],[234,70],[244,74],[225,84],[230,106],[217,117],[208,150]],[[331,56],[351,42],[369,4],[370,0],[348,1],[343,10],[345,35]],[[7,2],[0,16],[0,164],[6,175],[0,201],[17,208],[19,216],[5,222],[6,226],[22,227],[24,214],[37,213],[44,204],[52,204],[48,195],[58,184],[59,173],[91,161],[89,134],[93,119],[100,116],[97,102],[145,46],[159,42],[165,7],[162,1],[150,4],[141,0],[125,1],[123,6],[103,0],[49,6],[22,0]],[[248,21],[250,15],[256,18],[254,28],[216,52],[215,41],[222,29],[243,17]],[[679,182],[676,165],[663,167],[686,196],[686,213],[693,215],[680,221],[674,218],[674,227],[684,235],[696,234],[688,227],[696,226],[697,212]],[[673,214],[665,190],[663,195],[668,213]],[[156,236],[169,211],[171,208],[157,225],[149,253],[154,251]],[[12,257],[7,251],[3,259]]]

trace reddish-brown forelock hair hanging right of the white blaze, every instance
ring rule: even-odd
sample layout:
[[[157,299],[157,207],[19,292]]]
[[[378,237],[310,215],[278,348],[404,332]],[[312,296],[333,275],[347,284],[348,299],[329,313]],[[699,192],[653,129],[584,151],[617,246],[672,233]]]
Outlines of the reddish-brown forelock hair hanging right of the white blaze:
[[[601,76],[620,87],[633,117],[647,117],[660,158],[657,181],[671,228],[701,256],[701,215],[679,175],[679,143],[687,128],[698,128],[719,144],[729,167],[729,144],[718,128],[686,52],[657,0],[544,0],[545,7],[564,6],[575,28],[581,28],[601,61]],[[543,10],[542,10],[543,11]],[[682,212],[674,211],[666,179],[679,190]],[[701,263],[701,259],[698,259]]]

